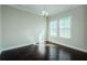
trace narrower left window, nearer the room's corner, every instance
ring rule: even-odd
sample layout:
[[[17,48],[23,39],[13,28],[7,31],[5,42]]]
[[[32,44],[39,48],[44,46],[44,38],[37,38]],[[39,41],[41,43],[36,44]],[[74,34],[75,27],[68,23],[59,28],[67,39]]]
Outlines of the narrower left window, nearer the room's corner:
[[[57,21],[50,22],[51,36],[57,36]]]

